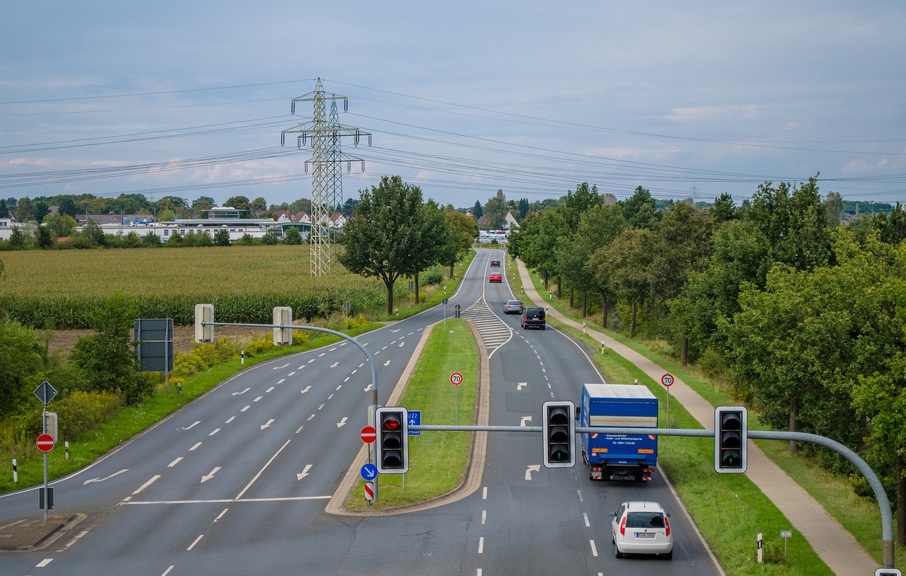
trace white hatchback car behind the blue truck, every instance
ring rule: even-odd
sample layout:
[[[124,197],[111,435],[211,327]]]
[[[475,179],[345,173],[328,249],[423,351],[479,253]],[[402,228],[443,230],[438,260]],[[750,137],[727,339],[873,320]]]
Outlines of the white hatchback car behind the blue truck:
[[[617,558],[623,554],[660,554],[673,558],[670,514],[657,502],[624,502],[612,512],[611,542]]]

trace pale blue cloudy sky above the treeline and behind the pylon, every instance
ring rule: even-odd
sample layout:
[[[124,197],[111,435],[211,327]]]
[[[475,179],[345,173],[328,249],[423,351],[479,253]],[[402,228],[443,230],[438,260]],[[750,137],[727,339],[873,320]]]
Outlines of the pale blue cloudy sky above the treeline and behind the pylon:
[[[737,205],[766,181],[906,204],[906,3],[7,3],[0,198],[312,194],[315,89],[342,197],[456,207],[583,182]],[[347,108],[348,107],[348,108]]]

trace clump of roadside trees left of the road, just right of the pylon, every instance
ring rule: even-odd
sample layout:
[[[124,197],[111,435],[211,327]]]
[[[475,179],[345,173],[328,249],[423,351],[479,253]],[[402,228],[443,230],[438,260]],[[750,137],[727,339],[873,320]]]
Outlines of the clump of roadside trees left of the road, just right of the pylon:
[[[421,189],[399,176],[381,178],[363,190],[352,217],[343,226],[340,264],[353,274],[376,276],[387,287],[387,313],[393,312],[393,285],[413,278],[419,302],[419,273],[435,264],[453,264],[478,235],[474,218],[423,201]]]

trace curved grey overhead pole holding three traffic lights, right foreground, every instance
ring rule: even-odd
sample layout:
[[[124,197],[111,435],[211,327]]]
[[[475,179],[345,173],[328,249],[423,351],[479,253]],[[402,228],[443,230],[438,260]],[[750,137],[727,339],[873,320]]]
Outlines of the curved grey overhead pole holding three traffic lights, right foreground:
[[[464,432],[542,432],[540,426],[433,426],[421,424],[410,426],[410,430],[449,430]],[[658,436],[685,436],[685,437],[702,437],[713,438],[714,430],[696,430],[689,428],[641,428],[641,427],[575,427],[579,434],[651,434]],[[891,502],[884,492],[884,487],[878,475],[862,459],[861,456],[830,438],[818,436],[817,434],[807,434],[805,432],[779,432],[773,430],[748,430],[748,437],[757,440],[794,440],[796,442],[811,442],[819,446],[824,446],[833,450],[840,456],[843,456],[861,472],[868,484],[872,486],[874,498],[878,501],[878,508],[881,511],[881,537],[883,543],[883,562],[884,568],[893,568],[893,514],[891,512]]]

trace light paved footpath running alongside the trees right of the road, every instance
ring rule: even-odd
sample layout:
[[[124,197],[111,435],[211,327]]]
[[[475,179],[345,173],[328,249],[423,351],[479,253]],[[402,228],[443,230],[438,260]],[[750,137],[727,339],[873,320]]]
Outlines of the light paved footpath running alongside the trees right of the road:
[[[517,264],[525,296],[535,305],[544,305],[545,300],[535,291],[535,285],[528,275],[525,264],[521,261],[517,261]],[[582,330],[581,323],[566,318],[554,309],[550,309],[548,315],[573,328]],[[585,332],[595,340],[603,342],[626,360],[630,360],[656,382],[660,382],[660,377],[667,371],[602,332],[588,328],[585,329]],[[702,427],[714,428],[714,407],[675,375],[673,385],[670,386],[670,396],[679,401]],[[871,575],[881,567],[882,564],[865,552],[852,534],[846,532],[833,516],[827,514],[821,504],[818,504],[802,486],[796,484],[779,466],[776,466],[751,440],[748,442],[746,475],[780,509],[793,525],[794,530],[805,537],[814,552],[835,574],[841,576]],[[878,521],[878,538],[881,538],[880,520]]]

